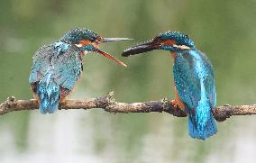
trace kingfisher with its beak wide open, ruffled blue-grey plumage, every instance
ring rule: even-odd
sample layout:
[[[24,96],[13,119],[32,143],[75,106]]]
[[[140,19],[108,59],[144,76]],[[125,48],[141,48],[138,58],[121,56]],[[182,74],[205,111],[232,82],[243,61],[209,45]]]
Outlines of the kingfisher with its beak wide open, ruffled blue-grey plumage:
[[[82,60],[87,52],[96,52],[117,64],[122,61],[99,49],[101,42],[128,41],[128,38],[103,38],[86,28],[71,29],[60,39],[42,46],[33,56],[29,77],[32,92],[42,114],[54,113],[59,102],[65,101],[83,71]]]

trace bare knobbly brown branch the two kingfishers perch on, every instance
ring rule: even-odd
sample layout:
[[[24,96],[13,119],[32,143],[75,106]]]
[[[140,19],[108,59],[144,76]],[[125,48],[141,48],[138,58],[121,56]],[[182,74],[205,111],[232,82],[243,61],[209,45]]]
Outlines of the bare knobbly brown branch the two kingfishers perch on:
[[[14,96],[8,97],[7,100],[0,104],[0,115],[14,111],[35,110],[39,108],[39,104],[35,99],[32,100],[15,100]],[[173,114],[178,117],[186,117],[185,113],[180,108],[176,108],[167,99],[160,101],[149,101],[142,103],[120,103],[115,102],[114,92],[96,98],[89,98],[86,100],[67,100],[59,103],[59,110],[61,109],[93,109],[102,108],[109,113],[151,113],[151,112],[165,112]],[[227,118],[233,115],[251,115],[256,114],[256,104],[251,105],[224,105],[216,107],[213,110],[215,119],[218,122],[224,122]]]

